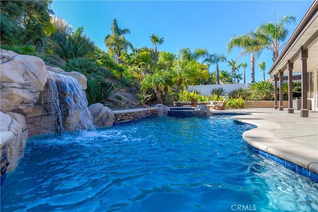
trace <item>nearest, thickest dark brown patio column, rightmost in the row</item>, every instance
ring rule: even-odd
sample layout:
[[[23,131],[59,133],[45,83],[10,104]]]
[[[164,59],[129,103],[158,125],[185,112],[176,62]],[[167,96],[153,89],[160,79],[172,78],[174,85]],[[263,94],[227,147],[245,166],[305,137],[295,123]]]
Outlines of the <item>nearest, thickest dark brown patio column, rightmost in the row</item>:
[[[302,108],[300,109],[301,117],[308,117],[309,110],[307,107],[307,59],[308,59],[308,49],[303,49],[303,46],[300,49],[300,59],[302,61]]]

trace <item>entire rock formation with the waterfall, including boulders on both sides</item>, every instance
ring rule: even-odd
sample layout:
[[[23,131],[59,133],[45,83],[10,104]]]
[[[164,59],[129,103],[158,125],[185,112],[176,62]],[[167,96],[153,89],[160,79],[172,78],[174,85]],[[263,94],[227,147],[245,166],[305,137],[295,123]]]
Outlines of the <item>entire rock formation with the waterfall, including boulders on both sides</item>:
[[[0,131],[13,133],[7,171],[12,171],[23,156],[29,136],[93,127],[83,92],[87,89],[84,75],[4,49],[0,50],[0,59]],[[92,107],[95,123],[112,124],[112,111],[97,107],[99,110]]]

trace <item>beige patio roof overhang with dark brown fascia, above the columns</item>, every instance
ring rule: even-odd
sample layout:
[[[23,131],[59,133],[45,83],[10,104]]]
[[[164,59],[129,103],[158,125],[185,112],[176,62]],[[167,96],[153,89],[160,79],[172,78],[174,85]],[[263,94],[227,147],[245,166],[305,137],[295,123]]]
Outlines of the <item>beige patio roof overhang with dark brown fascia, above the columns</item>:
[[[313,69],[318,65],[318,0],[314,0],[268,74],[278,76],[280,71],[287,71],[288,61],[294,63],[293,73],[301,72],[302,47],[308,49],[307,70]]]

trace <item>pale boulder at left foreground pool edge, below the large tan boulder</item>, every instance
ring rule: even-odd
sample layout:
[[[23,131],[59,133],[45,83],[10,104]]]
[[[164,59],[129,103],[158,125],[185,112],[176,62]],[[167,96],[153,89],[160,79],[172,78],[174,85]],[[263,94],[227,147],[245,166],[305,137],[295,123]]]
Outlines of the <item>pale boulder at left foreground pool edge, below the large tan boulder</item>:
[[[21,144],[22,127],[11,116],[0,112],[0,131],[10,131],[13,133],[13,138],[9,142],[9,166],[7,172],[12,171],[19,159],[19,149]],[[25,145],[25,144],[24,144]],[[23,148],[24,149],[24,148]],[[23,155],[23,154],[22,154]]]

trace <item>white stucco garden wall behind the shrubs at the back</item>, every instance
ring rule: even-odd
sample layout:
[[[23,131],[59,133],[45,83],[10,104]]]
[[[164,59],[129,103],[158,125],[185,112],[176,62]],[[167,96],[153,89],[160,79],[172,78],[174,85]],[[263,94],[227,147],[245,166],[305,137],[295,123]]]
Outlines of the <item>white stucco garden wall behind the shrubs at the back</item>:
[[[230,93],[231,91],[238,88],[248,88],[249,84],[223,84],[223,85],[198,85],[198,86],[189,86],[188,91],[198,91],[201,95],[210,95],[212,89],[223,88],[225,93]]]

